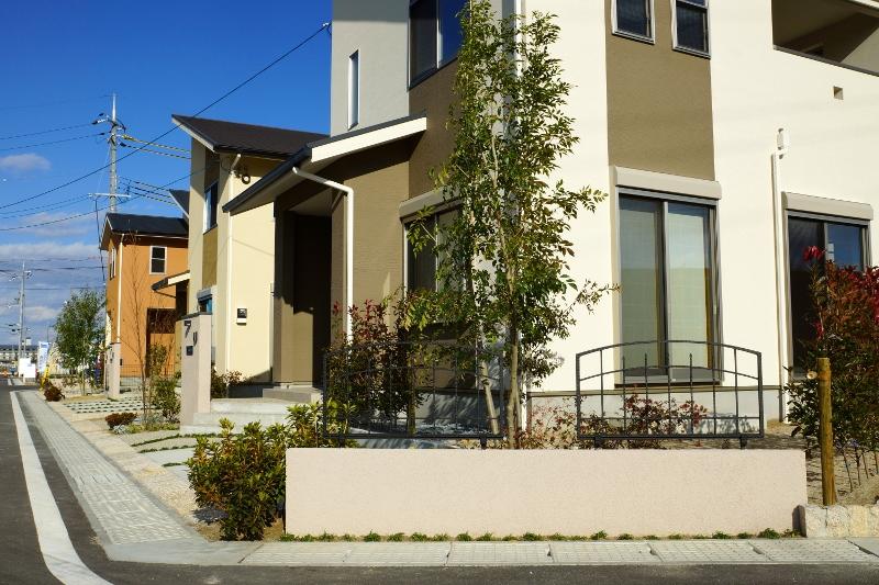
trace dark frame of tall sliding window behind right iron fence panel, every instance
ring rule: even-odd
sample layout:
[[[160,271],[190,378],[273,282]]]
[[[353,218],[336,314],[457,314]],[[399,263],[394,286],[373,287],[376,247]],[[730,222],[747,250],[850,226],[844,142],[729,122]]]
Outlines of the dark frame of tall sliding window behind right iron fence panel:
[[[723,299],[721,293],[721,243],[720,243],[720,229],[719,229],[719,207],[720,201],[710,198],[700,198],[694,195],[685,195],[678,193],[667,193],[663,191],[649,191],[646,189],[636,189],[636,188],[628,188],[628,187],[616,187],[615,190],[615,207],[614,211],[616,213],[616,222],[615,222],[615,239],[616,239],[616,250],[615,250],[615,274],[616,274],[616,282],[622,282],[622,229],[621,229],[621,200],[623,198],[637,198],[637,199],[646,199],[650,201],[658,201],[661,204],[661,258],[663,258],[663,282],[660,286],[660,302],[663,308],[663,329],[666,338],[668,338],[668,326],[669,326],[669,315],[668,315],[668,228],[667,228],[667,217],[668,217],[668,204],[669,203],[686,203],[691,205],[699,205],[702,207],[708,209],[709,211],[709,246],[711,247],[709,260],[711,262],[711,278],[709,281],[711,288],[711,314],[710,314],[710,327],[713,333],[713,338],[709,339],[708,341],[711,344],[715,344],[713,347],[713,363],[714,363],[714,380],[711,376],[705,375],[704,379],[699,378],[694,379],[696,383],[719,383],[723,378],[723,350],[720,345],[723,344]],[[617,339],[620,342],[624,342],[623,340],[623,305],[622,301],[620,302],[620,308],[616,313],[615,320],[616,320],[616,330],[617,330]],[[650,341],[650,339],[645,339],[645,341]],[[622,356],[622,352],[620,353]],[[674,375],[674,374],[672,374]],[[626,384],[630,382],[643,382],[644,376],[625,376],[621,373],[619,376],[619,384]],[[668,383],[667,375],[654,375],[650,374],[647,376],[647,382],[649,384],[667,384]]]

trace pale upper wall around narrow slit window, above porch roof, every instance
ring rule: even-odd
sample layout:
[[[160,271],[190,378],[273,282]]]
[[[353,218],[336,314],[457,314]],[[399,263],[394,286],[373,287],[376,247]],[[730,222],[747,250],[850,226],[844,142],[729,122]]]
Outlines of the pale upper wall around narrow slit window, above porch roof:
[[[333,0],[330,133],[348,131],[348,57],[360,52],[357,127],[409,115],[409,0]]]

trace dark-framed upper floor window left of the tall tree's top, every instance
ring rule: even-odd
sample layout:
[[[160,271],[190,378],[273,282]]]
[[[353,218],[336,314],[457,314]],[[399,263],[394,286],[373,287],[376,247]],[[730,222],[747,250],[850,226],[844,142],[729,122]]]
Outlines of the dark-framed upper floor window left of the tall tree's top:
[[[410,0],[409,80],[423,79],[458,54],[459,14],[467,0]]]

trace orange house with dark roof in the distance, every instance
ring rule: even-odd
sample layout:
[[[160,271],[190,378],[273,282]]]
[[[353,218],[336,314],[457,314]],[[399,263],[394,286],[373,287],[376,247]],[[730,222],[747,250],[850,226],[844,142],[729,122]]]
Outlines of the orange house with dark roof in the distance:
[[[164,373],[179,363],[175,324],[186,313],[187,236],[182,217],[108,213],[107,342],[119,342],[123,379],[136,379],[151,347],[167,349]],[[154,290],[173,281],[174,286]]]

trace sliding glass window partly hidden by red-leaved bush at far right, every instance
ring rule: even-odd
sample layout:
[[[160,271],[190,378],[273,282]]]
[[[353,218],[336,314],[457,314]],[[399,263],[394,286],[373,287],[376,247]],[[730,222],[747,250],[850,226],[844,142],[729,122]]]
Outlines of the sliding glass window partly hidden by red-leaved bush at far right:
[[[839,217],[788,214],[790,328],[793,369],[798,374],[805,373],[810,365],[805,363],[806,348],[815,339],[815,313],[810,291],[812,261],[804,258],[811,246],[824,250],[824,259],[837,266],[864,270],[867,263],[867,224]]]

